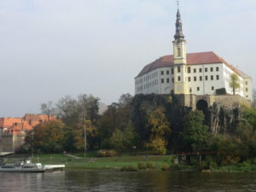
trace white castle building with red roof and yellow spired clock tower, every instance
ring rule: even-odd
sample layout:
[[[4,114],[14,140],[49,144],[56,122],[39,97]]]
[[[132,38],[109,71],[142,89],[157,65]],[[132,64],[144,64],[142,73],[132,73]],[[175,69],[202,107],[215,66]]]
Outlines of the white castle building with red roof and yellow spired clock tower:
[[[188,53],[181,15],[177,9],[173,55],[149,63],[135,78],[135,94],[217,95],[225,90],[233,95],[230,75],[235,73],[240,84],[235,94],[252,100],[252,78],[233,67],[212,51]]]

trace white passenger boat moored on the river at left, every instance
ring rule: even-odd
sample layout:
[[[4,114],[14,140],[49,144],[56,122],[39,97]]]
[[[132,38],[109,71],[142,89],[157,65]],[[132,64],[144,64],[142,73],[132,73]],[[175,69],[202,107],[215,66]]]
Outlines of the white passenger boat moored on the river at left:
[[[32,163],[31,160],[22,160],[17,163],[3,164],[0,172],[44,172],[45,168],[41,163]]]

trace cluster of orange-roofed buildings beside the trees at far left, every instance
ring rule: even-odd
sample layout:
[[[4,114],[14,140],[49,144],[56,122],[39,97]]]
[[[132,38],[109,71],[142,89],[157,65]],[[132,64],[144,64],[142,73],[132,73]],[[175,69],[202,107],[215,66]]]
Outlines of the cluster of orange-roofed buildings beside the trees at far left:
[[[54,119],[54,116],[48,117],[44,114],[26,114],[23,118],[1,118],[0,128],[3,127],[2,137],[0,135],[1,151],[15,152],[25,143],[27,131],[32,131],[42,122]]]

